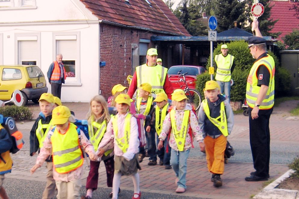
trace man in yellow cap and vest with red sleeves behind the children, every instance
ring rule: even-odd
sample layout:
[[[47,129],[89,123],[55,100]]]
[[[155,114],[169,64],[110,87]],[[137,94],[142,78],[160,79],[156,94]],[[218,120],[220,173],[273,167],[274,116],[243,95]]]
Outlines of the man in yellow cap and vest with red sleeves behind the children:
[[[173,93],[173,87],[167,76],[167,68],[158,65],[158,52],[156,48],[150,48],[147,51],[147,63],[137,66],[130,84],[128,95],[132,98],[136,89],[139,96],[139,86],[143,83],[151,84],[151,92],[154,94],[165,92],[169,99]]]

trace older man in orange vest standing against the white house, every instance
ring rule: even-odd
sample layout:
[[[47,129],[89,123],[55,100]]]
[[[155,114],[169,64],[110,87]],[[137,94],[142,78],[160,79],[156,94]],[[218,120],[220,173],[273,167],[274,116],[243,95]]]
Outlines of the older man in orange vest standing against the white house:
[[[64,83],[65,69],[62,63],[62,54],[56,56],[56,61],[51,63],[47,72],[49,83],[51,84],[51,93],[53,96],[61,99],[61,84]]]

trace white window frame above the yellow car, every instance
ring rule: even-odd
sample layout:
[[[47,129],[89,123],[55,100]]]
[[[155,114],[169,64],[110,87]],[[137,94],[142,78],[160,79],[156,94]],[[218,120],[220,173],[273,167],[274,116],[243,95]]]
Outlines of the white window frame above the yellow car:
[[[36,57],[36,66],[39,66],[41,68],[41,44],[40,44],[40,32],[37,33],[15,33],[15,64],[21,64],[20,63],[20,53],[19,53],[19,41],[37,41],[37,57]],[[25,60],[24,60],[25,61]],[[35,60],[30,60],[35,61]]]

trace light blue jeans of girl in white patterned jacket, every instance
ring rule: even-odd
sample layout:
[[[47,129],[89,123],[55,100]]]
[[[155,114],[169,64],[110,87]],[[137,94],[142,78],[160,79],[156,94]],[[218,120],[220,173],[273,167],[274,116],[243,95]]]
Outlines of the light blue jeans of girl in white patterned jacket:
[[[186,173],[187,173],[187,158],[189,156],[190,149],[186,151],[176,151],[171,149],[170,165],[172,166],[176,177],[179,178],[177,183],[178,187],[186,187]]]

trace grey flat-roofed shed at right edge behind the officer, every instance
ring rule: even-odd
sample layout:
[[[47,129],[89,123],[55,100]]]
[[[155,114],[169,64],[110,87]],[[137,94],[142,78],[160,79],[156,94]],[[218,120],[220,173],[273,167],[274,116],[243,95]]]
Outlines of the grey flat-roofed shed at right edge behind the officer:
[[[292,95],[299,95],[299,50],[280,51],[281,66],[291,74]]]

